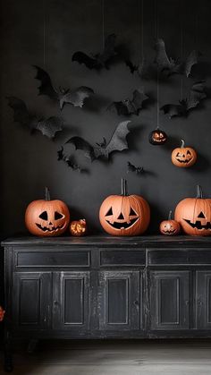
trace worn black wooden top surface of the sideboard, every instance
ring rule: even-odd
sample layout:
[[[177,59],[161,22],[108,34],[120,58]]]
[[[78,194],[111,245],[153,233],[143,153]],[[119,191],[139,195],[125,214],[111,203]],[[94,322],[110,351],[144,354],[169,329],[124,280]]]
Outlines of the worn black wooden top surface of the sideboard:
[[[134,237],[113,237],[108,235],[92,235],[84,237],[35,237],[15,236],[5,239],[2,246],[103,246],[103,247],[162,247],[162,246],[211,246],[211,236],[187,236],[174,237],[165,235],[143,235]]]

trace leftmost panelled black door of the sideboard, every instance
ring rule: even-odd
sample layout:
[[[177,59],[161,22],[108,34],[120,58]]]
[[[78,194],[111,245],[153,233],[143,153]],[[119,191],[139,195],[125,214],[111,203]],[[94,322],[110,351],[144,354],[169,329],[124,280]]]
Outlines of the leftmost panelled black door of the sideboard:
[[[16,329],[46,329],[51,325],[51,273],[13,274],[13,324]]]

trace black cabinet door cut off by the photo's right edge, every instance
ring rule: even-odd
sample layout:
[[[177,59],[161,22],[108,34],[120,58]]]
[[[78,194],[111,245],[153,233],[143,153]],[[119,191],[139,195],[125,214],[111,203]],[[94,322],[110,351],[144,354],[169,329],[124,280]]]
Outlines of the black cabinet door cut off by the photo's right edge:
[[[211,271],[198,271],[196,285],[197,328],[211,328]]]

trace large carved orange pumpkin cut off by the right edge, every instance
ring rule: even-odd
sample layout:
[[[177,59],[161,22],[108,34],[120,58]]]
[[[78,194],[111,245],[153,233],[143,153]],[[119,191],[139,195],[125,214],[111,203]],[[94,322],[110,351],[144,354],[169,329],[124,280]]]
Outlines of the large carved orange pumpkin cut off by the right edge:
[[[211,199],[203,199],[202,189],[197,186],[197,197],[181,200],[174,218],[186,234],[211,235]]]

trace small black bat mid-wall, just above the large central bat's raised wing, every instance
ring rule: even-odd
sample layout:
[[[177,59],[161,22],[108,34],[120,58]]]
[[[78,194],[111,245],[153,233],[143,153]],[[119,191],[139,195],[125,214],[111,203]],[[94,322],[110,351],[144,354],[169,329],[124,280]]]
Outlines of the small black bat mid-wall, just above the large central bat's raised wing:
[[[123,101],[114,101],[107,109],[115,109],[118,115],[139,115],[142,104],[148,96],[144,91],[135,89],[133,91],[132,99],[125,99]]]

